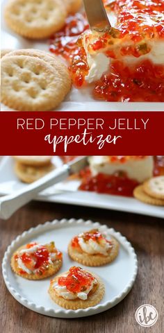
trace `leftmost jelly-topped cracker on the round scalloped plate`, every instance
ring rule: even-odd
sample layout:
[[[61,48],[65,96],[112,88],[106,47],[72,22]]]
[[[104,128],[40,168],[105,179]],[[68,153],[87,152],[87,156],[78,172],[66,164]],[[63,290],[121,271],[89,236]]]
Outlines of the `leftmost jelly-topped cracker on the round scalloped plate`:
[[[49,244],[36,242],[17,249],[11,258],[13,271],[28,280],[41,280],[54,275],[63,264],[63,255],[54,241]]]

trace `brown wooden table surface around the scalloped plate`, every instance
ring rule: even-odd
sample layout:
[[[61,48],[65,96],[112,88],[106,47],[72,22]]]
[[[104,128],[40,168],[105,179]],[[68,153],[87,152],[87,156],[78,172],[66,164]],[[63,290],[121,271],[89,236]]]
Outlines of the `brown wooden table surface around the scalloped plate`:
[[[37,203],[26,205],[8,221],[0,221],[1,259],[6,247],[18,234],[38,223],[75,217],[106,223],[124,234],[138,255],[138,276],[133,289],[120,304],[95,316],[60,319],[49,318],[26,309],[7,291],[1,278],[1,332],[3,333],[162,333],[164,327],[164,221],[147,216],[126,214],[71,205]],[[121,272],[120,272],[121,274]],[[135,319],[136,309],[151,304],[158,310],[152,327],[141,327]]]

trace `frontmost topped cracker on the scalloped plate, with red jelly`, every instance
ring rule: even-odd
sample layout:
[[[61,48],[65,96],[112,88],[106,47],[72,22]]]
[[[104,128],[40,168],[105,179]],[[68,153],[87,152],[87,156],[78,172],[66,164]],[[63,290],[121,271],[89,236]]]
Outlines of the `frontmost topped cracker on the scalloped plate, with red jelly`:
[[[50,282],[49,295],[65,309],[94,307],[103,298],[104,283],[95,273],[73,266]]]

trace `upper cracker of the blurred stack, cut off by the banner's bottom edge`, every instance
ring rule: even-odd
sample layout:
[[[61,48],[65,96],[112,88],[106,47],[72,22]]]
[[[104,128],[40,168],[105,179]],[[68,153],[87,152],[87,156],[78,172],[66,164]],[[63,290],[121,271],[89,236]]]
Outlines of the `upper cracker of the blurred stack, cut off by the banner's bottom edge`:
[[[13,158],[17,162],[31,167],[43,167],[51,162],[51,156],[13,156]]]

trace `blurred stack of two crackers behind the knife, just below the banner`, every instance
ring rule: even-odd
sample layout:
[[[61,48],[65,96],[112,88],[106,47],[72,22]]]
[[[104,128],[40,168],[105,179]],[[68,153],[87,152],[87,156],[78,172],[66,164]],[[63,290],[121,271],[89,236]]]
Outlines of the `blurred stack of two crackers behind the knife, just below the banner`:
[[[54,169],[51,156],[14,156],[15,173],[22,182],[31,183]]]

